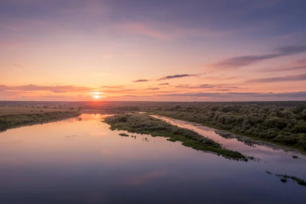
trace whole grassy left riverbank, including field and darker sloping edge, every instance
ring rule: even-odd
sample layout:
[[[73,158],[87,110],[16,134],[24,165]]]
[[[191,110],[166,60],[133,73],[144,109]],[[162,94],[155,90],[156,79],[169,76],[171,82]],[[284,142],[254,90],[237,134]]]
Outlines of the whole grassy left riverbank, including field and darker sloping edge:
[[[0,131],[80,116],[76,110],[0,107]]]

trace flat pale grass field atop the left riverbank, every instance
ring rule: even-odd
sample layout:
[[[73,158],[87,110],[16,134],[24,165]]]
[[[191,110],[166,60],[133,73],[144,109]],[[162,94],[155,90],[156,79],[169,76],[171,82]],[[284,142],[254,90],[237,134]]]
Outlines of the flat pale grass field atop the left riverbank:
[[[75,112],[68,109],[44,109],[44,108],[23,108],[23,107],[0,107],[0,116],[17,115],[17,114],[33,114],[33,113],[50,113],[50,112]]]

